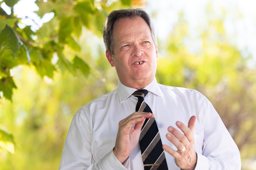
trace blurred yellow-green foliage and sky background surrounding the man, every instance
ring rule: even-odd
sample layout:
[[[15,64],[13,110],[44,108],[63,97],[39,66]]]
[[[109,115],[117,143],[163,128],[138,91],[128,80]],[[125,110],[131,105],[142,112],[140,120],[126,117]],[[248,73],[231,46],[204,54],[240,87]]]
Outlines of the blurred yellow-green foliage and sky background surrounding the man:
[[[158,39],[159,83],[214,105],[256,168],[256,1],[0,0],[0,169],[58,169],[75,112],[114,90],[102,27],[140,7]]]

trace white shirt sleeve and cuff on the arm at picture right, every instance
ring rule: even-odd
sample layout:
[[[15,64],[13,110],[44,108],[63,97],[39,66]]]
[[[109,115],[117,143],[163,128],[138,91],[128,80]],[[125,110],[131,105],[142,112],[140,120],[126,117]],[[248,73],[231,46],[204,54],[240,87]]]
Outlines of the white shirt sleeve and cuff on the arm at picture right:
[[[195,170],[240,170],[241,159],[238,147],[211,102],[203,95],[199,97],[203,116],[199,121],[204,129],[203,152],[197,153]]]

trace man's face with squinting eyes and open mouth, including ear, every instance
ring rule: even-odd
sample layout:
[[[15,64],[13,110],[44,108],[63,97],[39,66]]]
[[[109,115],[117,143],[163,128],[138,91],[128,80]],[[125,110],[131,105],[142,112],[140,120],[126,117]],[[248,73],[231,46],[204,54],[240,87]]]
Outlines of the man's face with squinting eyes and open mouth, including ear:
[[[122,84],[141,89],[152,82],[157,69],[158,51],[150,28],[141,17],[121,18],[113,26],[114,56],[106,56]]]

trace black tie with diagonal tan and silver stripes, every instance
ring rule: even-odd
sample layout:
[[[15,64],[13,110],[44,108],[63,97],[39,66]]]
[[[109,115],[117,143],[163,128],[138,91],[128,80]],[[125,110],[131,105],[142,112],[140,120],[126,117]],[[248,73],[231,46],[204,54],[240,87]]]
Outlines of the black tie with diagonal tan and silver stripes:
[[[137,90],[132,95],[138,97],[136,111],[152,113],[150,107],[144,102],[148,90]],[[155,118],[146,119],[140,131],[140,150],[144,170],[168,170],[162,141]]]

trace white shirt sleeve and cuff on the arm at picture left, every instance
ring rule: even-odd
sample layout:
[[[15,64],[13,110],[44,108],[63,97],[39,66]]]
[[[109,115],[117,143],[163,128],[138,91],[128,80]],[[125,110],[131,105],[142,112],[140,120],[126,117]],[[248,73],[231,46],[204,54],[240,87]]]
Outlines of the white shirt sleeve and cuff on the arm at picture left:
[[[129,158],[122,165],[110,150],[95,161],[91,152],[91,126],[86,117],[75,114],[64,144],[59,170],[129,170]]]

